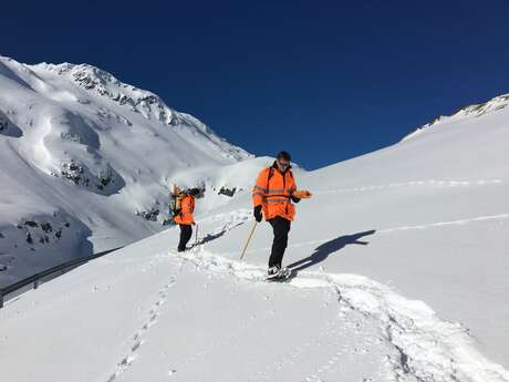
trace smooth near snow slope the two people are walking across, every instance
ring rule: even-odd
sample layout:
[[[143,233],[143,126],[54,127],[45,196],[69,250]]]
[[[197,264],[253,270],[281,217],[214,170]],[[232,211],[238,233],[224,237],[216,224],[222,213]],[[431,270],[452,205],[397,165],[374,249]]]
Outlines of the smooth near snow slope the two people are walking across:
[[[314,196],[298,205],[289,282],[263,281],[267,223],[239,260],[245,190],[197,217],[183,256],[172,228],[8,301],[2,381],[509,381],[500,104],[297,172]],[[236,176],[252,183],[262,163],[248,164]]]

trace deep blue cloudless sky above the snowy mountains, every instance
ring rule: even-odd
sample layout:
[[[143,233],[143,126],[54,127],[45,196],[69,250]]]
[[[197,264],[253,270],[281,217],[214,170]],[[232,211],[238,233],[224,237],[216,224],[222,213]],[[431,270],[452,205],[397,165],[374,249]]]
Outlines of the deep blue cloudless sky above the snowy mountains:
[[[509,92],[509,1],[10,1],[0,54],[91,63],[312,169]]]

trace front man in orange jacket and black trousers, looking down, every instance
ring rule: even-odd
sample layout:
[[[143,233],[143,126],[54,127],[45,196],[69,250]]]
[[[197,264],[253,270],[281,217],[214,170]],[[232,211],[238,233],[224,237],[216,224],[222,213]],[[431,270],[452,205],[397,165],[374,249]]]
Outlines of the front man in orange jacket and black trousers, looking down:
[[[280,152],[272,166],[260,172],[252,189],[254,218],[260,223],[263,213],[266,220],[272,226],[274,235],[269,258],[269,277],[279,276],[285,271],[281,265],[288,246],[291,221],[295,216],[293,203],[301,200],[300,197],[295,196],[297,184],[290,161],[289,153]]]

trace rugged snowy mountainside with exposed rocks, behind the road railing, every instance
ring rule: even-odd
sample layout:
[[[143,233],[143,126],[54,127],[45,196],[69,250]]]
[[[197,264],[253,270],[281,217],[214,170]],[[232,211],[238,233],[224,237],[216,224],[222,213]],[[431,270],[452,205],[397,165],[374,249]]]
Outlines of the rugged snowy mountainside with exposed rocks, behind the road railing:
[[[221,168],[250,157],[97,68],[0,56],[0,286],[162,230],[185,169],[206,167],[188,185],[224,203],[208,186],[241,187]]]

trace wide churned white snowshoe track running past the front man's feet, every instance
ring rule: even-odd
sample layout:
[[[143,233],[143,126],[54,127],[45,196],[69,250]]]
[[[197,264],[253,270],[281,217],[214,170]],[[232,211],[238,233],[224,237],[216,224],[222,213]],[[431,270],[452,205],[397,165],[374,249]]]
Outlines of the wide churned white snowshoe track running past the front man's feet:
[[[264,273],[261,267],[209,254],[204,247],[183,258],[194,262],[197,269],[251,281],[258,281]],[[333,290],[340,303],[376,321],[381,338],[394,349],[395,355],[387,359],[394,381],[509,381],[507,370],[477,351],[466,328],[439,319],[424,302],[405,299],[378,282],[357,275],[301,271],[285,287]],[[292,359],[291,353],[282,357],[258,378],[263,379],[269,375],[266,372],[291,364]],[[332,355],[307,381],[320,381],[320,375],[335,362]]]

